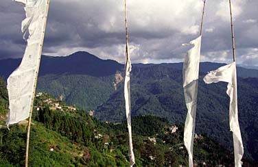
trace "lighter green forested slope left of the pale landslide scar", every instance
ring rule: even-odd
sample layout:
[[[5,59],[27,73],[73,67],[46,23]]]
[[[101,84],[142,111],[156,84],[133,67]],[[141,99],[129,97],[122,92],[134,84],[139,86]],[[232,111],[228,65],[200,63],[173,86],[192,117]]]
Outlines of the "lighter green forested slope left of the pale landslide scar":
[[[49,92],[70,105],[94,110],[115,92],[114,76],[45,75],[38,79],[38,92]]]

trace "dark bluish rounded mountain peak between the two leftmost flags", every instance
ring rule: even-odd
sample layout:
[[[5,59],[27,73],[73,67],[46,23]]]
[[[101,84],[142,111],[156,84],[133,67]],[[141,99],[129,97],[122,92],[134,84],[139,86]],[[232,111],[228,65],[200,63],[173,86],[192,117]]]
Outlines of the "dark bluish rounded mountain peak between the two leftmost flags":
[[[65,57],[44,57],[40,63],[40,75],[49,74],[75,74],[104,77],[115,75],[117,70],[123,68],[115,60],[102,60],[86,52],[78,51]]]

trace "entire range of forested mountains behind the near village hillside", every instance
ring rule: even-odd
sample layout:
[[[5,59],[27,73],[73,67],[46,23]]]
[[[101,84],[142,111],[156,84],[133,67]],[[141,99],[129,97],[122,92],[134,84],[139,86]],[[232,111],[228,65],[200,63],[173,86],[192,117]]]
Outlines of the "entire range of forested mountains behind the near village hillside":
[[[89,62],[87,62],[89,60]],[[7,61],[7,62],[4,62]],[[11,73],[0,60],[0,75]],[[16,61],[16,60],[15,60]],[[14,63],[15,64],[15,63]],[[197,133],[232,148],[228,123],[226,84],[205,85],[202,77],[223,64],[201,63],[198,88]],[[18,66],[18,65],[17,65]],[[132,114],[167,118],[170,123],[185,122],[186,107],[182,86],[182,63],[133,64],[131,74]],[[111,68],[112,67],[112,68]],[[77,70],[80,69],[80,70]],[[100,120],[124,120],[124,66],[113,60],[99,60],[89,53],[78,52],[69,57],[43,57],[38,91],[48,92],[86,110],[95,110]],[[239,123],[245,156],[258,161],[258,70],[237,68]],[[253,77],[253,78],[251,78]]]

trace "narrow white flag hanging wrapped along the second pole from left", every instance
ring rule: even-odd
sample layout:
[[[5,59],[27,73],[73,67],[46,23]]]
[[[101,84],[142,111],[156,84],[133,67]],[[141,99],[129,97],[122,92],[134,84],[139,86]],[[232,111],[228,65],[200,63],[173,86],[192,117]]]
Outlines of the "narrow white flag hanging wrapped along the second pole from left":
[[[130,56],[128,53],[128,44],[126,44],[126,77],[124,79],[124,98],[126,101],[126,118],[127,118],[127,126],[129,133],[129,159],[130,166],[135,164],[134,160],[134,152],[132,147],[132,125],[131,125],[131,102],[130,102],[130,72],[132,70],[132,64],[130,61]]]

